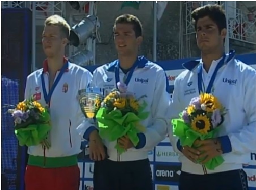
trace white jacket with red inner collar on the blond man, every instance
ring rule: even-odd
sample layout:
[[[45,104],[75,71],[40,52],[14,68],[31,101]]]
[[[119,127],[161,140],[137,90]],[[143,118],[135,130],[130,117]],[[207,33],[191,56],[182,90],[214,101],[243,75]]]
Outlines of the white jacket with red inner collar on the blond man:
[[[44,74],[46,91],[49,93],[49,73],[48,67],[44,63],[43,69],[36,70],[27,77],[25,99],[34,95],[39,103],[46,106],[42,91],[42,73]],[[56,78],[58,74],[59,71],[56,73]],[[86,120],[80,109],[78,90],[85,89],[91,78],[92,74],[87,69],[69,63],[68,69],[63,73],[50,99],[52,129],[49,132],[49,140],[52,147],[45,150],[45,155],[42,145],[28,147],[28,154],[65,157],[81,152],[82,136],[92,124]]]

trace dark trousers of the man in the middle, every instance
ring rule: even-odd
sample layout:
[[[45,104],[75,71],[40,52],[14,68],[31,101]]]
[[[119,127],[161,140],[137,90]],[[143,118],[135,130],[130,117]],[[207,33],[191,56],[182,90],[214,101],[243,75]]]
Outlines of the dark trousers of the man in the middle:
[[[153,190],[150,161],[96,161],[94,190]]]

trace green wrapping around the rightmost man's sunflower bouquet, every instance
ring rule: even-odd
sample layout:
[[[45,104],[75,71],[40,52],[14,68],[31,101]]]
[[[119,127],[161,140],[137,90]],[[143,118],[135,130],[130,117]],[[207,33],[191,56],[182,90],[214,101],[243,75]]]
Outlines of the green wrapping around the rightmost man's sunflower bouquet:
[[[173,125],[173,134],[177,136],[180,139],[180,143],[182,146],[189,146],[189,147],[195,147],[193,144],[195,140],[200,139],[200,140],[206,140],[206,139],[212,139],[215,137],[216,132],[218,131],[218,127],[207,134],[200,134],[197,131],[194,131],[191,129],[182,119],[173,119],[172,120],[172,125]],[[204,160],[204,159],[202,159]],[[202,160],[198,160],[198,163]],[[222,156],[216,156],[206,162],[204,164],[207,169],[209,170],[214,170],[215,167],[223,164],[224,158]]]

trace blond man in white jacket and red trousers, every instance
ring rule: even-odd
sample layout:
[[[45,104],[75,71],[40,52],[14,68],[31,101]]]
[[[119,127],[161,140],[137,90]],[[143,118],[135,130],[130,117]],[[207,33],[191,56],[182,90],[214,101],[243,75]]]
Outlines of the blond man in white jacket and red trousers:
[[[27,77],[25,99],[33,95],[50,108],[52,130],[48,140],[52,146],[49,149],[42,145],[28,147],[26,190],[79,189],[77,154],[84,132],[93,125],[80,110],[78,90],[87,87],[92,74],[65,58],[69,35],[70,26],[61,16],[48,17],[42,33],[47,59],[42,69]]]

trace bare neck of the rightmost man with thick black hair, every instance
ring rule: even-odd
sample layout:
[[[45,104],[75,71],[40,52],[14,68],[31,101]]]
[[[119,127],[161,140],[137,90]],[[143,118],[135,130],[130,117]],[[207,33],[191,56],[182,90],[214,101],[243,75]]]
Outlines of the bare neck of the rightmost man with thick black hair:
[[[203,61],[203,68],[208,72],[211,67],[212,61],[218,60],[223,56],[223,49],[221,48],[218,51],[211,52],[211,53],[201,53],[201,58]]]

